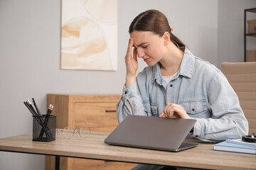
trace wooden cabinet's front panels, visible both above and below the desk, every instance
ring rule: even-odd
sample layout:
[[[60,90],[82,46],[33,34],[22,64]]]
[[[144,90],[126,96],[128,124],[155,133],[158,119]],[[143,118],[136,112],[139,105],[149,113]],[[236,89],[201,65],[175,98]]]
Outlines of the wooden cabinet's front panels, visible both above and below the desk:
[[[117,127],[117,103],[75,103],[75,128],[87,125],[92,131],[112,132]],[[70,159],[70,158],[68,158]],[[132,169],[136,164],[74,159],[75,170]]]

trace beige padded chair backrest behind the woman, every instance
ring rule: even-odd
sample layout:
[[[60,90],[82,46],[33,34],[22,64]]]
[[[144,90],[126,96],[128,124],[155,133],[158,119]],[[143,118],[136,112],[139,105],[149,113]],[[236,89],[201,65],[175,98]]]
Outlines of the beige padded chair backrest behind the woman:
[[[249,135],[256,133],[256,62],[223,62],[222,72],[238,94],[249,123]]]

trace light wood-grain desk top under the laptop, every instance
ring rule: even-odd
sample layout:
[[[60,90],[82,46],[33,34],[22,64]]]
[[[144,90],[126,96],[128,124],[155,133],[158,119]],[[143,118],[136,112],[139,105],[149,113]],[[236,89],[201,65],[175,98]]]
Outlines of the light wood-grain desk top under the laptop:
[[[107,135],[92,132],[86,139],[75,136],[70,140],[59,135],[52,142],[33,142],[31,134],[18,135],[0,139],[0,150],[200,169],[256,169],[255,154],[214,151],[213,144],[199,143],[182,152],[165,152],[106,145]]]

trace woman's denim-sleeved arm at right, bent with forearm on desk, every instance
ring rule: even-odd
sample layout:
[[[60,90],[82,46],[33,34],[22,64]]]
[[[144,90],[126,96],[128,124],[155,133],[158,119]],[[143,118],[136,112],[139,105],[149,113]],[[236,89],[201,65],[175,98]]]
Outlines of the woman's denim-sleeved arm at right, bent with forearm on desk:
[[[200,140],[241,138],[248,133],[248,122],[240,107],[237,94],[222,72],[213,75],[208,85],[211,118],[197,118],[193,134]]]

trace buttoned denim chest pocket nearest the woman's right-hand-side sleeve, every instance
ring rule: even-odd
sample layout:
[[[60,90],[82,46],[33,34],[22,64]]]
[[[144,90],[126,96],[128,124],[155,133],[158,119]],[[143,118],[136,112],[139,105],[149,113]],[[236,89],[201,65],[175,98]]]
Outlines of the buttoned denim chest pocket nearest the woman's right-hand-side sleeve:
[[[205,113],[207,110],[207,101],[206,100],[198,100],[198,101],[179,101],[179,105],[181,105],[186,113],[190,115],[196,115],[198,113]]]

